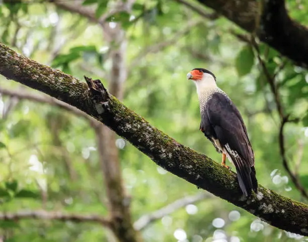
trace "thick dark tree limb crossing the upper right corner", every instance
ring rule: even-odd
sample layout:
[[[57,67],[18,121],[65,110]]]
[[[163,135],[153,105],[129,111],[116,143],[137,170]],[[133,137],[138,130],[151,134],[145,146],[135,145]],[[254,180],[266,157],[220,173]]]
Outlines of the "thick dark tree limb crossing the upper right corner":
[[[292,20],[284,0],[198,0],[261,41],[308,67],[308,28]]]

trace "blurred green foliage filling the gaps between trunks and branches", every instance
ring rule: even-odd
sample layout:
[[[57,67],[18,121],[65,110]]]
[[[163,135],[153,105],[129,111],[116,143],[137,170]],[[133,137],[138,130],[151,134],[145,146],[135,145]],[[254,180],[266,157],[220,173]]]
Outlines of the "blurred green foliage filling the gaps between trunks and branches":
[[[111,47],[101,27],[53,4],[25,2],[0,2],[1,41],[40,63],[80,79],[86,75],[106,83],[104,73],[110,71],[111,65],[105,59]],[[93,7],[99,18],[112,2],[85,0],[83,4]],[[308,23],[305,1],[287,4],[293,18]],[[229,31],[242,33],[241,30],[224,18],[204,19],[173,1],[140,0],[132,11],[132,15],[121,12],[106,20],[122,24],[128,40],[124,103],[183,145],[220,161],[220,155],[199,132],[198,98],[193,83],[186,80],[192,68],[211,70],[245,119],[256,156],[258,181],[301,201],[282,166],[279,117],[269,85],[251,47]],[[193,21],[196,24],[179,36]],[[159,51],[142,54],[156,44],[161,44]],[[308,190],[308,72],[262,43],[260,51],[271,74],[284,65],[276,78],[282,104],[286,113],[301,120],[285,127],[286,156]],[[131,66],[133,62],[136,64]],[[0,85],[21,88],[3,77]],[[6,114],[0,119],[2,212],[44,208],[107,214],[95,133],[86,120],[54,106],[7,96],[0,96],[0,113]],[[198,192],[192,184],[167,173],[129,143],[117,139],[134,220]],[[43,193],[47,198],[42,197]],[[191,242],[305,240],[216,197],[195,205],[150,224],[142,231],[144,240],[177,241],[179,234],[183,235],[177,229],[185,231],[187,239],[182,241]],[[222,218],[223,224],[217,218]],[[99,224],[51,220],[1,221],[0,234],[8,238],[6,241],[108,241],[106,230]]]

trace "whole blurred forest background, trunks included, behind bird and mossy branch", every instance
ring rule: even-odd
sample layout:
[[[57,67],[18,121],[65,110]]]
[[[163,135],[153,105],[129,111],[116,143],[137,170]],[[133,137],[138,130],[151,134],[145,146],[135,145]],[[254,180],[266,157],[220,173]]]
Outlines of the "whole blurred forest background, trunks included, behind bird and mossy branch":
[[[308,3],[268,1],[286,10],[289,26],[263,1],[236,2],[0,1],[0,41],[80,80],[100,79],[153,127],[219,162],[186,79],[193,68],[211,70],[244,117],[259,183],[307,203],[308,48],[298,42],[308,35]],[[304,230],[286,232],[197,189],[84,112],[1,74],[1,240],[307,240]]]

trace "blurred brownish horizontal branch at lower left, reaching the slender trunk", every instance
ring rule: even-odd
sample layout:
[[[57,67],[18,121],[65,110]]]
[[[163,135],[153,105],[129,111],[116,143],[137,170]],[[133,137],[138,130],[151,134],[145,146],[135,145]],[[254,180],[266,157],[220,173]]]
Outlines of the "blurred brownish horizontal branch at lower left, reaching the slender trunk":
[[[0,220],[20,220],[20,219],[48,219],[48,220],[61,220],[72,222],[97,222],[106,227],[110,227],[109,220],[102,216],[88,214],[67,214],[58,211],[18,211],[15,213],[5,212],[0,213]]]

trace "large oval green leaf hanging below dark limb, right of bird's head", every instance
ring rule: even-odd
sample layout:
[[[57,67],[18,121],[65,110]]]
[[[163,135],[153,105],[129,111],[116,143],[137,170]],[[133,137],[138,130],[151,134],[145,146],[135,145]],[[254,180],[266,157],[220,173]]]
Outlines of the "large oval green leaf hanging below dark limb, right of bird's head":
[[[250,73],[254,65],[254,52],[250,46],[245,46],[236,58],[236,69],[239,76],[245,76]]]

